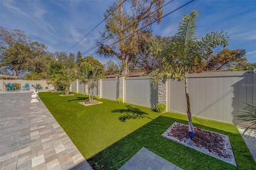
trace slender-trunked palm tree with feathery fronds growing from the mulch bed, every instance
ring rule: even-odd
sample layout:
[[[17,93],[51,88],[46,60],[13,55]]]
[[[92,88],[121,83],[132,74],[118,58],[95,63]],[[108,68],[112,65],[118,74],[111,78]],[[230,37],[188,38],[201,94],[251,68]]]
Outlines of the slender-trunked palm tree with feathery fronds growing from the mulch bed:
[[[196,10],[191,14],[184,14],[179,24],[178,33],[174,42],[154,41],[150,47],[150,53],[162,59],[163,65],[152,73],[151,83],[156,87],[158,81],[166,82],[168,79],[183,81],[186,92],[188,130],[194,132],[192,124],[190,100],[188,95],[188,73],[190,73],[195,63],[200,61],[212,52],[212,48],[217,45],[227,45],[227,34],[210,32],[206,36],[196,38]]]

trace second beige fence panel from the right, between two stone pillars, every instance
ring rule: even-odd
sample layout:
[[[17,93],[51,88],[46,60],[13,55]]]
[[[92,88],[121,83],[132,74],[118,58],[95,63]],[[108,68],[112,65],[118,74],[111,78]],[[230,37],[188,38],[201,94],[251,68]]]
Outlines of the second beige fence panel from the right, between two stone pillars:
[[[158,88],[150,85],[150,77],[126,77],[125,103],[153,107],[158,102]]]

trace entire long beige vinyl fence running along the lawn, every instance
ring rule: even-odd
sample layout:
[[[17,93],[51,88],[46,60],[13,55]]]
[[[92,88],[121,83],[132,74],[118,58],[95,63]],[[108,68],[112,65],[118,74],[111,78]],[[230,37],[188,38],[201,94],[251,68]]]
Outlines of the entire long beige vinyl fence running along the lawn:
[[[72,91],[75,89],[73,85],[77,86],[78,93],[84,93],[85,88],[80,87],[78,81],[72,83]],[[104,99],[116,100],[122,97],[125,103],[151,108],[156,103],[166,103],[168,112],[186,114],[183,82],[169,80],[153,89],[150,77],[119,77],[102,79],[98,81],[98,87],[97,94]],[[249,122],[238,122],[236,115],[244,111],[240,106],[242,103],[256,104],[256,69],[250,73],[189,74],[188,91],[193,116],[248,126]]]

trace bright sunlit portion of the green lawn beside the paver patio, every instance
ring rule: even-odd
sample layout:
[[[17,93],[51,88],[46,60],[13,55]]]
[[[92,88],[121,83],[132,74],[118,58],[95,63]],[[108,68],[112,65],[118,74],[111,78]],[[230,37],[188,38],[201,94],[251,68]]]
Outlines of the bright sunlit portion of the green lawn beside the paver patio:
[[[79,102],[88,100],[88,97],[81,94],[62,97],[59,94],[61,92],[42,92],[39,97],[86,159],[160,115],[150,108],[106,99],[97,99],[102,104],[84,106]],[[130,111],[136,112],[138,117],[131,115]]]

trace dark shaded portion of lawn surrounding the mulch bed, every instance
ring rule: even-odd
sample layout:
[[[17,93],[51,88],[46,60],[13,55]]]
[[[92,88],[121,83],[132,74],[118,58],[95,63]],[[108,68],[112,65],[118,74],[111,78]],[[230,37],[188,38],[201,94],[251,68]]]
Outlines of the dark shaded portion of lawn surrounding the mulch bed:
[[[125,110],[125,109],[124,109]],[[151,150],[162,158],[176,164],[184,169],[254,169],[256,163],[242,137],[239,133],[226,132],[212,127],[194,123],[195,127],[205,130],[218,132],[228,135],[238,167],[228,164],[222,160],[216,159],[208,154],[198,152],[172,140],[162,137],[162,133],[167,130],[175,121],[188,125],[188,121],[174,119],[170,117],[159,116],[155,121],[150,121],[141,128],[128,134],[118,140],[111,146],[98,152],[87,159],[88,163],[94,170],[118,170],[124,165],[136,152],[142,147]],[[239,142],[241,140],[241,142]],[[92,146],[94,147],[94,146]],[[181,161],[182,160],[182,161]]]

